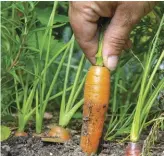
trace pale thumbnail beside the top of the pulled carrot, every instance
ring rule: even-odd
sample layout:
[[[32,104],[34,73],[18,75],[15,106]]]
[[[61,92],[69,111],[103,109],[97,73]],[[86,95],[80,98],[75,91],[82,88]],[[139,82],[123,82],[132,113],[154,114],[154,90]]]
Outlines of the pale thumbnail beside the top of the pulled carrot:
[[[118,63],[117,55],[111,55],[108,57],[107,56],[104,57],[104,65],[111,71],[116,69],[117,63]]]

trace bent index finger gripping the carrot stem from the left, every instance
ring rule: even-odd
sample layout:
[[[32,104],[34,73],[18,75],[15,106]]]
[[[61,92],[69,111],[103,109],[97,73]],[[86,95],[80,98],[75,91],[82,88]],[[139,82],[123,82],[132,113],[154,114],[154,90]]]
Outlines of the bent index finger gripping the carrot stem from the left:
[[[86,57],[95,64],[97,52],[97,20],[99,16],[91,9],[89,2],[71,2],[69,17],[76,40],[83,49]]]

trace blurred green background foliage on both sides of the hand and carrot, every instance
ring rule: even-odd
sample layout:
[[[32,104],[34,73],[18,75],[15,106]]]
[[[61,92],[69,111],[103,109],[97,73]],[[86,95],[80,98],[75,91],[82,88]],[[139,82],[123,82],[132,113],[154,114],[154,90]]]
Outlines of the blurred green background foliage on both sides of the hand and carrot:
[[[67,45],[72,43],[68,2],[58,2],[54,17],[51,16],[53,2],[2,2],[1,4],[2,123],[3,121],[14,121],[14,123],[17,121],[13,117],[14,113],[19,112],[17,103],[22,108],[24,103],[27,102],[36,79],[39,83],[34,91],[35,95],[32,96],[29,110],[36,109],[37,102],[40,100],[43,102],[51,88],[46,99],[46,110],[58,112],[59,116],[63,84],[66,83],[65,71],[69,64],[69,59],[65,59],[62,64],[61,59],[67,49]],[[131,33],[133,48],[123,52],[117,69],[111,74],[111,100],[107,114],[106,140],[124,141],[129,139],[145,68],[145,55],[148,53],[158,30],[163,10],[164,2],[159,2],[153,12],[149,13],[136,25]],[[164,25],[161,26],[155,52],[152,56],[152,68],[164,49],[163,36]],[[70,74],[67,80],[67,86],[69,87],[74,84],[81,56],[82,51],[75,42],[69,64]],[[55,59],[52,59],[53,57]],[[67,58],[68,55],[65,57]],[[49,63],[51,59],[52,62]],[[50,64],[48,68],[46,68],[47,64]],[[57,73],[60,66],[60,72],[56,76],[56,83],[52,86],[55,73]],[[89,66],[90,63],[87,61],[81,77],[85,76]],[[164,78],[163,66],[164,61],[161,61],[153,79],[153,86],[156,86]],[[44,71],[45,76],[43,76],[44,74],[41,76],[42,71]],[[154,91],[153,86],[148,91],[149,95]],[[66,99],[70,94],[69,87],[65,87],[65,90],[67,90]],[[82,91],[80,91],[79,97],[82,99]],[[40,104],[41,102],[38,102],[38,105]],[[39,109],[40,106],[37,110]],[[43,118],[44,111],[40,118]],[[164,112],[164,101],[163,91],[160,91],[151,106],[143,130],[149,130],[149,127],[162,112]],[[34,121],[34,114],[37,115],[38,113],[40,112],[34,112],[29,119]],[[58,118],[57,116],[55,117]],[[81,119],[81,109],[74,114],[74,117]],[[40,122],[41,119],[38,119],[38,121]],[[160,124],[159,127],[164,129],[163,124]],[[42,126],[38,128],[38,132],[40,132],[41,128]]]

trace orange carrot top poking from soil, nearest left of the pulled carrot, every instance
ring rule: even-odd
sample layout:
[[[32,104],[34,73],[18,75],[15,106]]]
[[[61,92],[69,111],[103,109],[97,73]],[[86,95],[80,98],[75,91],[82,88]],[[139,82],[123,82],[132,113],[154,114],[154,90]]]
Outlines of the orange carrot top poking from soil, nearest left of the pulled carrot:
[[[51,130],[49,131],[48,137],[56,137],[59,138],[62,142],[65,142],[71,139],[71,134],[65,128],[60,126],[55,126],[52,127]]]

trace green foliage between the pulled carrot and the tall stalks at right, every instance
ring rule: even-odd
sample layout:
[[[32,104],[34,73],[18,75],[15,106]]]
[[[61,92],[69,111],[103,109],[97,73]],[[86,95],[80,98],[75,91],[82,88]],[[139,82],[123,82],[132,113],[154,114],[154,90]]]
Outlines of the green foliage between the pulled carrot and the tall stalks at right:
[[[110,102],[111,111],[108,115],[110,121],[105,134],[105,140],[114,140],[121,135],[128,136],[130,133],[130,126],[134,116],[134,111],[131,111],[134,101],[132,102],[131,100],[137,90],[137,86],[135,87],[135,85],[138,84],[133,83],[133,85],[129,88],[128,82],[131,79],[127,78],[127,74],[125,72],[126,69],[128,69],[128,71],[130,70],[128,66],[125,65],[124,67],[120,67],[119,64],[114,75],[113,98]],[[128,93],[130,90],[131,92]],[[123,140],[126,139],[127,138],[123,138]]]

